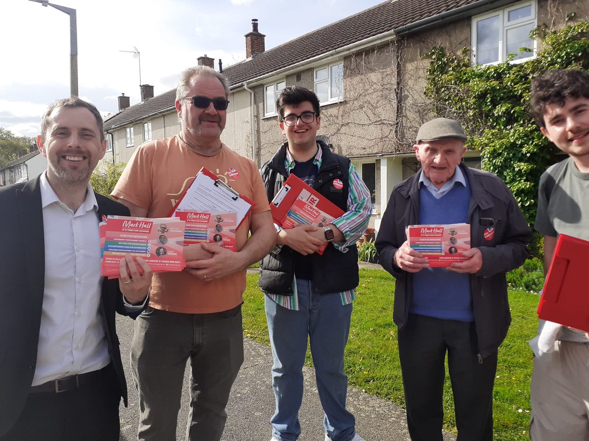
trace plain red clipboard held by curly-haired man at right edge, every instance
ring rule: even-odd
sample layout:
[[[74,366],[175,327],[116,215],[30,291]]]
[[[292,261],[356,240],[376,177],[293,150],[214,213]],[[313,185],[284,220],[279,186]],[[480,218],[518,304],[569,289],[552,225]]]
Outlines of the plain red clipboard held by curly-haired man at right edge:
[[[589,332],[589,241],[561,234],[538,305],[538,317]]]

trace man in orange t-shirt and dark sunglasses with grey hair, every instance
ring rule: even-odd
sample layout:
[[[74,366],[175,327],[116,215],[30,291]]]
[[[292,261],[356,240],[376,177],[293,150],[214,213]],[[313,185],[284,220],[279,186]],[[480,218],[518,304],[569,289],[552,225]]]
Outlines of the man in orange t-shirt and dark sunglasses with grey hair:
[[[213,69],[184,71],[176,91],[180,133],[141,145],[112,192],[133,216],[165,217],[190,179],[206,167],[254,202],[236,231],[236,252],[217,243],[188,245],[186,270],[153,277],[150,305],[137,318],[131,348],[141,409],[139,440],[176,440],[188,358],[187,437],[220,440],[231,385],[243,362],[246,268],[269,253],[276,239],[256,163],[221,142],[228,96],[227,80]]]

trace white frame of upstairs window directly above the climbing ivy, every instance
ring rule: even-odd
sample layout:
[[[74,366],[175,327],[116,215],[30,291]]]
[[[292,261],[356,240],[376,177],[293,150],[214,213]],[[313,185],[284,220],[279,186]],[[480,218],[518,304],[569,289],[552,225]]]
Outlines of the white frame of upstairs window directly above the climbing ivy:
[[[517,21],[508,22],[508,14],[509,11],[513,11],[514,9],[522,8],[523,6],[531,6],[532,9],[532,18],[524,18],[519,19]],[[525,24],[532,24],[532,28],[537,26],[538,21],[538,8],[536,4],[536,0],[529,0],[525,2],[519,2],[514,5],[506,6],[505,8],[495,9],[495,11],[487,12],[485,14],[476,15],[472,17],[472,24],[471,24],[471,41],[472,41],[472,52],[471,52],[471,61],[473,65],[477,65],[477,23],[481,20],[490,18],[492,16],[499,16],[499,60],[494,61],[491,63],[481,64],[481,66],[488,66],[488,65],[495,65],[502,62],[505,62],[507,58],[507,31],[509,29],[518,28],[521,25]],[[522,63],[528,61],[532,58],[535,58],[537,53],[537,41],[534,38],[532,40],[532,49],[533,51],[528,53],[528,56],[524,58],[519,58],[517,60],[511,60],[511,63]]]

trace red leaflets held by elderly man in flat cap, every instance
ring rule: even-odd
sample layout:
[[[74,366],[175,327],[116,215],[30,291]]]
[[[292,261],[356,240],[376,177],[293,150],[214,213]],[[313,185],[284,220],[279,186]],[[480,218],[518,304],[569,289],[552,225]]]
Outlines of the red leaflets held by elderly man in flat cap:
[[[471,226],[468,223],[446,225],[409,225],[409,246],[429,259],[432,268],[464,262],[462,253],[471,249]]]

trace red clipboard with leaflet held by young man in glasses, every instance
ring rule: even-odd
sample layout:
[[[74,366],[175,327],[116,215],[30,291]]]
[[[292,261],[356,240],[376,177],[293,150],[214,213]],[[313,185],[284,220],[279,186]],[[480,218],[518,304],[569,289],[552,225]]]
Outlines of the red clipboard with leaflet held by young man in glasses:
[[[295,224],[327,225],[344,211],[295,175],[290,175],[272,202],[270,213],[277,225],[293,228]],[[317,251],[322,255],[327,245]]]

